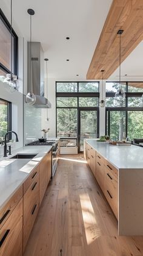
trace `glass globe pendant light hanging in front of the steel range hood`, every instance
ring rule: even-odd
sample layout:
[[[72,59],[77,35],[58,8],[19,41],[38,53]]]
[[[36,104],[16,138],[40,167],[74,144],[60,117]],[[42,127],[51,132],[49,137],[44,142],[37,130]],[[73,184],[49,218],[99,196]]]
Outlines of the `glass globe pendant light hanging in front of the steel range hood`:
[[[35,14],[35,11],[28,9],[27,12],[30,15],[30,92],[27,93],[25,102],[28,105],[33,105],[36,102],[36,96],[34,93],[32,93],[32,15]]]

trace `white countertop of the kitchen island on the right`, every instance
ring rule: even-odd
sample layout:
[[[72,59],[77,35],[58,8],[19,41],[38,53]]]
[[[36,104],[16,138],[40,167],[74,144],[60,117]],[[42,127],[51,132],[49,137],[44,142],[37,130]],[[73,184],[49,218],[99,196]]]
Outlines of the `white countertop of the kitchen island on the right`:
[[[118,169],[143,169],[143,148],[139,146],[115,146],[96,139],[86,141]]]

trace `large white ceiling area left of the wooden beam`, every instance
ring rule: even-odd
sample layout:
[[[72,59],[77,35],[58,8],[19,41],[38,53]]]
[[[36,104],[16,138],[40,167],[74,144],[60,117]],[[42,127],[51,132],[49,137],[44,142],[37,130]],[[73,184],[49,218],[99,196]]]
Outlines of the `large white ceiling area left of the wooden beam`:
[[[33,16],[33,41],[41,41],[48,77],[84,80],[112,0],[13,0],[13,26],[29,40],[28,8]],[[10,0],[1,0],[5,16]],[[70,37],[70,40],[65,40]],[[69,62],[66,59],[70,59]],[[76,76],[79,74],[79,76]]]

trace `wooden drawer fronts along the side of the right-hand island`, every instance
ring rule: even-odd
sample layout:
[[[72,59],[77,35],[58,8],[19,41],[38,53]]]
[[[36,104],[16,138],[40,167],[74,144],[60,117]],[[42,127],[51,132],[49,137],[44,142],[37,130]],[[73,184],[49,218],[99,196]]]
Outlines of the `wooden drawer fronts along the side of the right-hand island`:
[[[96,180],[101,187],[108,204],[118,219],[118,169],[111,165],[101,154],[85,141],[84,153]]]

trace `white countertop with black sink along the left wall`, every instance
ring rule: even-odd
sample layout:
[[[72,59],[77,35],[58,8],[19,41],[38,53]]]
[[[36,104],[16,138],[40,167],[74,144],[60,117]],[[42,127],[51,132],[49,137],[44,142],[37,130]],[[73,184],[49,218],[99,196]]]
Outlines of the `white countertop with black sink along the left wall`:
[[[12,155],[0,158],[0,210],[6,204],[8,199],[18,190],[18,188],[27,179],[30,172],[38,165],[39,161],[52,146],[25,146],[16,149]],[[31,159],[10,159],[16,154],[37,154]]]

